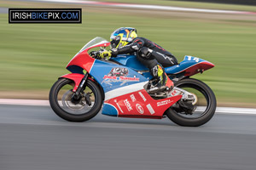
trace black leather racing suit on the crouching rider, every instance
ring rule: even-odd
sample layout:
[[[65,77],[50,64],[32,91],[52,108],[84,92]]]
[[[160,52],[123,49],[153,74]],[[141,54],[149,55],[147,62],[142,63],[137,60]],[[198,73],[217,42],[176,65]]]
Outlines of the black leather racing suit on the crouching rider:
[[[137,53],[137,59],[149,70],[158,63],[164,67],[178,64],[177,59],[170,52],[144,37],[136,37],[124,47],[113,48],[111,51],[113,57],[118,54]]]

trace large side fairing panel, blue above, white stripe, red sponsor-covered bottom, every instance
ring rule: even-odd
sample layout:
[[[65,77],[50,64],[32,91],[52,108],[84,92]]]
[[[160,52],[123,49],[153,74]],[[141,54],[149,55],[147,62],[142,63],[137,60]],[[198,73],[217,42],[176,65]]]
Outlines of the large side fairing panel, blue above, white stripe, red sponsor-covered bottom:
[[[104,89],[105,101],[102,109],[104,115],[160,119],[166,109],[181,98],[181,96],[160,100],[151,98],[144,89],[148,79],[129,67],[96,59],[90,74]]]

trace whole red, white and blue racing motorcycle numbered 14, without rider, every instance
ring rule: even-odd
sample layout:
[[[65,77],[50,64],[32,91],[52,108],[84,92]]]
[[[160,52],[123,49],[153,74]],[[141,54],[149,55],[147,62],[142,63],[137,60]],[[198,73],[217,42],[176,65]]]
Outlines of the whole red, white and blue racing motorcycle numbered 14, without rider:
[[[118,117],[167,116],[188,127],[201,126],[212,118],[216,110],[212,89],[190,78],[214,67],[212,63],[185,56],[179,65],[165,68],[175,85],[172,91],[148,94],[154,83],[148,68],[132,54],[101,59],[99,51],[108,46],[110,42],[96,37],[70,60],[66,68],[72,73],[59,77],[49,92],[49,103],[56,115],[70,122],[88,121],[100,111]]]

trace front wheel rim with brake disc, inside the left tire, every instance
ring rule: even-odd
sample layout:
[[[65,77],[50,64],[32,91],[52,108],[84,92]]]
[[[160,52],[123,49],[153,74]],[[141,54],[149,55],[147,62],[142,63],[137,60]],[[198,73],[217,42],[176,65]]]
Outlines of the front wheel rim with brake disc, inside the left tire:
[[[71,115],[84,115],[88,112],[90,112],[94,106],[96,101],[96,92],[93,88],[88,86],[84,89],[82,92],[82,98],[79,100],[79,104],[74,104],[72,102],[72,96],[73,96],[73,82],[68,81],[66,83],[63,83],[56,92],[56,101],[57,105],[61,108],[62,111],[67,112]],[[86,104],[86,101],[84,99],[84,96],[86,94],[90,94],[90,101],[91,105]]]

